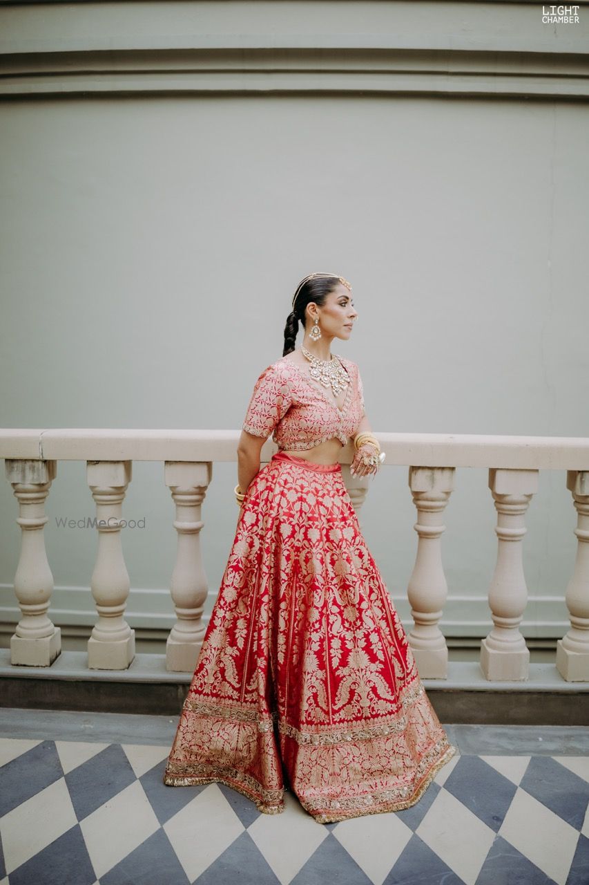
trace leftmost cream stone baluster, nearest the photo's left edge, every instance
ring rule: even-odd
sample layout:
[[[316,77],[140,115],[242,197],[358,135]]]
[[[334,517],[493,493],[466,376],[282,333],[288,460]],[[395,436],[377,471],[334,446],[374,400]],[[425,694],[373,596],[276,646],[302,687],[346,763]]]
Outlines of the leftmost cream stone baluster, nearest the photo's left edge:
[[[50,607],[53,575],[45,552],[45,499],[57,474],[56,461],[6,458],[6,478],[19,501],[21,544],[14,592],[22,618],[11,636],[11,664],[50,666],[61,652],[61,630]]]

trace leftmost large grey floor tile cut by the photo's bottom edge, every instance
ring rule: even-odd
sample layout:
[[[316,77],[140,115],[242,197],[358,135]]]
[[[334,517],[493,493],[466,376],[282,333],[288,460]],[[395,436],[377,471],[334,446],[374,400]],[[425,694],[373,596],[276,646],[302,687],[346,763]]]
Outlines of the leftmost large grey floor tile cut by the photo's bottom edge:
[[[10,875],[11,885],[93,885],[96,875],[80,827],[69,829]]]

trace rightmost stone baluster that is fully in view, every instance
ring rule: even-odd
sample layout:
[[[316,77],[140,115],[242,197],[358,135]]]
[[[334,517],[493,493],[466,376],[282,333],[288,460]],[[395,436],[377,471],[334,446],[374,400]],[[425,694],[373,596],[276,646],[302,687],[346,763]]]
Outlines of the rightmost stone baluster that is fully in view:
[[[525,512],[538,491],[537,470],[491,467],[489,489],[497,510],[497,562],[489,588],[493,629],[481,642],[480,666],[490,681],[525,680],[530,650],[519,625],[528,591],[522,561]]]

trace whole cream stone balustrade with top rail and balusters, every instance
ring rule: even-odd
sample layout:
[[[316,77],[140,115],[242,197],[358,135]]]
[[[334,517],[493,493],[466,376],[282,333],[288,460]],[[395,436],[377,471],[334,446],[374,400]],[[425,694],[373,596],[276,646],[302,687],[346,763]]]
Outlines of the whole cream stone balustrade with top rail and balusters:
[[[167,640],[166,667],[190,673],[203,643],[207,583],[201,559],[202,505],[215,461],[235,461],[236,431],[0,430],[0,457],[19,501],[22,545],[14,589],[22,617],[11,637],[11,664],[50,666],[60,654],[60,629],[51,622],[53,578],[43,527],[45,501],[57,461],[85,460],[96,502],[98,552],[90,586],[97,620],[88,640],[88,667],[123,670],[134,659],[134,630],[125,620],[129,577],[121,545],[126,489],[134,460],[161,461],[175,505],[178,533],[170,589],[176,623]],[[424,678],[447,677],[447,644],[440,618],[447,597],[441,561],[442,517],[454,489],[455,470],[488,468],[497,511],[497,561],[488,603],[493,627],[481,643],[480,666],[489,681],[526,680],[530,652],[521,624],[527,601],[522,564],[525,513],[538,489],[540,470],[566,470],[578,513],[577,558],[565,601],[570,629],[557,643],[555,666],[565,681],[589,681],[589,439],[378,433],[386,466],[409,466],[417,508],[417,554],[408,596],[414,626],[409,642]],[[262,460],[275,450],[264,444]],[[351,445],[341,450],[344,480],[359,511],[368,480],[348,469]]]

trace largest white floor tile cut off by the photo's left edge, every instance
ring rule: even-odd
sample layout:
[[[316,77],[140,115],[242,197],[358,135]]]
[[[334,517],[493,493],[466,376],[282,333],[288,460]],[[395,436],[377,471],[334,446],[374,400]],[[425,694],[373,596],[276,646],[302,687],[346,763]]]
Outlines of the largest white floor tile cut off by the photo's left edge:
[[[4,814],[0,819],[0,835],[6,873],[13,873],[76,823],[72,800],[63,778]]]

